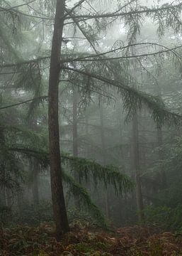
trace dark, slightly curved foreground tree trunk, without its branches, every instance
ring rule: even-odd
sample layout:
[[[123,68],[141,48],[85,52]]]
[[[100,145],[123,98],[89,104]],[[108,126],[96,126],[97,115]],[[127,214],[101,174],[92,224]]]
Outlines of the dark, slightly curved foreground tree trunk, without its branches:
[[[57,0],[55,26],[52,38],[49,79],[48,125],[50,139],[50,178],[52,189],[52,206],[56,224],[56,237],[67,233],[69,224],[62,186],[62,168],[59,151],[58,86],[60,72],[60,51],[64,26],[65,0]]]

